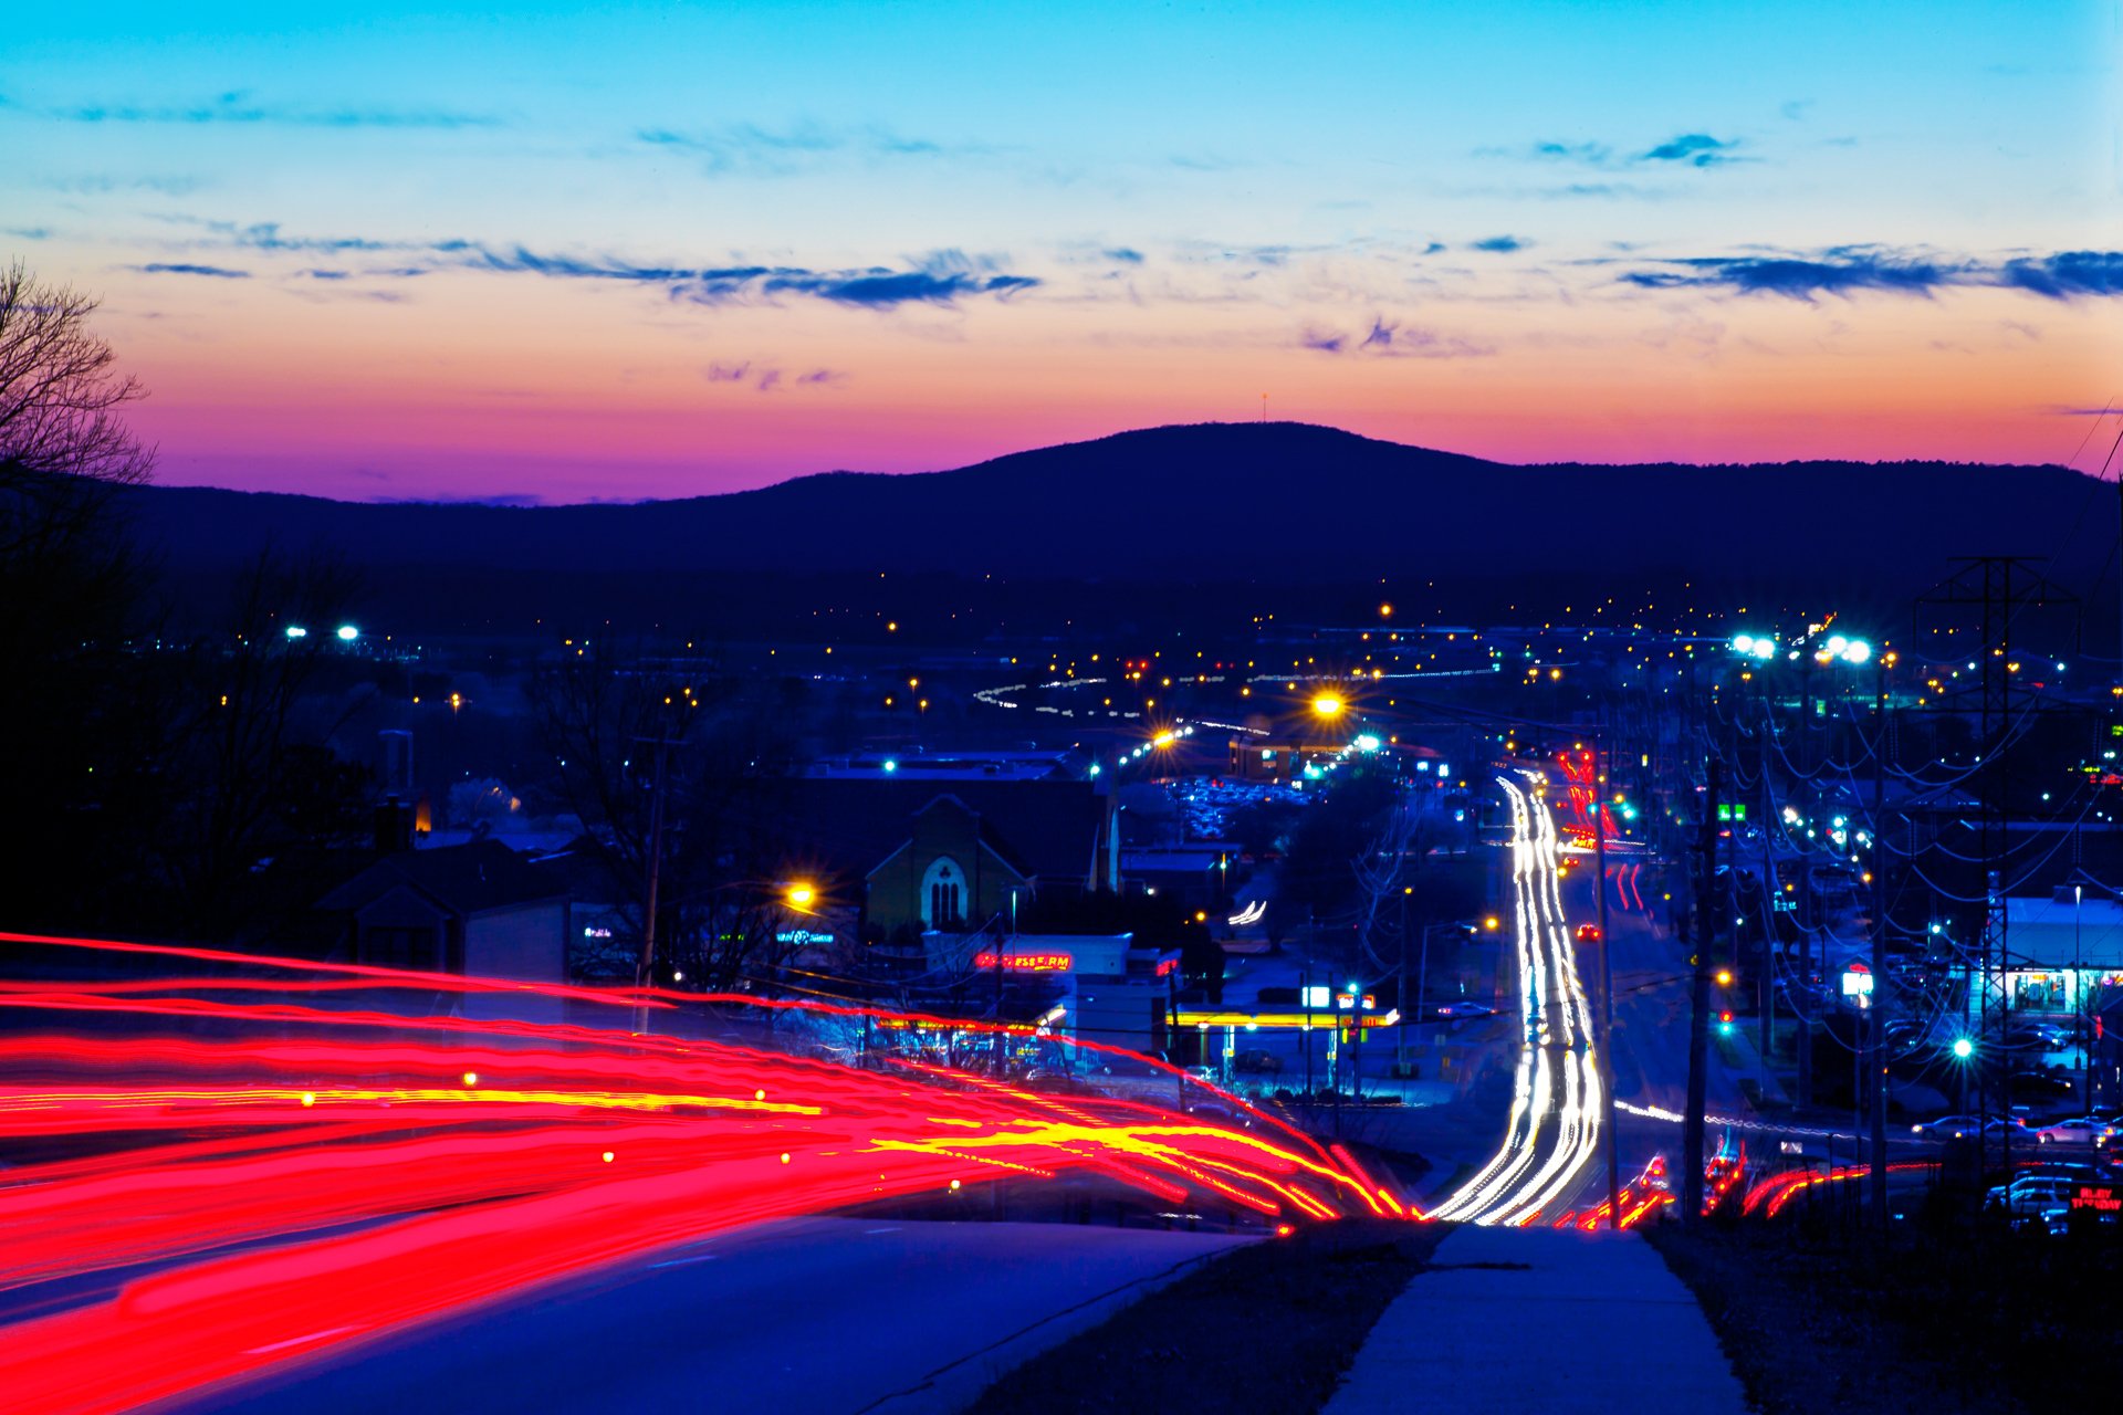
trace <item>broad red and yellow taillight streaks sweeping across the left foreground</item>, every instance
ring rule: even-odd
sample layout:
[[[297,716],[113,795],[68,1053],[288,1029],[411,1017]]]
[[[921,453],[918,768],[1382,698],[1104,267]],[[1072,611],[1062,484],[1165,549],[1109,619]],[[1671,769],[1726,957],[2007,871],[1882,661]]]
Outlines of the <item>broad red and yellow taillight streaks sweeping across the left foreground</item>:
[[[1242,1124],[890,1050],[856,1067],[631,1029],[641,1008],[681,1025],[703,1001],[885,1020],[862,1008],[0,944],[53,974],[125,974],[0,980],[15,1033],[0,1037],[15,1160],[0,1171],[0,1392],[17,1415],[183,1396],[703,1235],[983,1180],[1104,1175],[1267,1226],[1420,1218],[1340,1146],[1212,1086]],[[138,976],[157,965],[191,976]],[[618,1025],[416,1014],[435,997],[605,1008]],[[996,1031],[892,1020],[900,1042]]]

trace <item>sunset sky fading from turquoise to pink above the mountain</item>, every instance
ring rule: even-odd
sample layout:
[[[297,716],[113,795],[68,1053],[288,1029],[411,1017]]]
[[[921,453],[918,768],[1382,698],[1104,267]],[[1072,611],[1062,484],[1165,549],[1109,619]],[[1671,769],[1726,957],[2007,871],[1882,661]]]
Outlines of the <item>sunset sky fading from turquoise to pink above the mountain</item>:
[[[635,501],[1263,412],[2087,467],[2119,36],[2115,0],[32,6],[0,259],[102,297],[170,484]]]

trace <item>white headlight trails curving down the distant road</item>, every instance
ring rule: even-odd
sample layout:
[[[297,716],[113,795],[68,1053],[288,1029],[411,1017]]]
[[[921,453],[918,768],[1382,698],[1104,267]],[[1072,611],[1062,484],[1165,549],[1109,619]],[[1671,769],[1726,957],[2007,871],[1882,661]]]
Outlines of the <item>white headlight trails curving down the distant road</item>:
[[[1563,914],[1554,815],[1537,791],[1503,776],[1497,783],[1512,802],[1520,1016],[1512,1114],[1497,1154],[1431,1218],[1531,1224],[1584,1182],[1599,1152],[1603,1090],[1590,1006]]]

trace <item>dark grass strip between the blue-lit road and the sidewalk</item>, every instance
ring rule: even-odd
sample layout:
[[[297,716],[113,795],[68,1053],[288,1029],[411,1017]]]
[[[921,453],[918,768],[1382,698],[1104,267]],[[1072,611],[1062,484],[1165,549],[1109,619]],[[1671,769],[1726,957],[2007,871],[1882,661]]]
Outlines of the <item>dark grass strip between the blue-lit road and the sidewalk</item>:
[[[1448,1230],[1346,1220],[1240,1247],[1025,1362],[972,1411],[1318,1411]]]

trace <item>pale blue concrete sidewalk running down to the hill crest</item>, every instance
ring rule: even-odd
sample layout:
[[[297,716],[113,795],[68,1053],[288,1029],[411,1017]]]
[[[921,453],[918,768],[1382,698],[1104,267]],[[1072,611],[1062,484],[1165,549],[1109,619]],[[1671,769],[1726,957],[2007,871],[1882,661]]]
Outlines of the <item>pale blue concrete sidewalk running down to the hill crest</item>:
[[[1641,1237],[1471,1226],[1378,1320],[1327,1415],[1446,1404],[1747,1411],[1696,1298]]]

